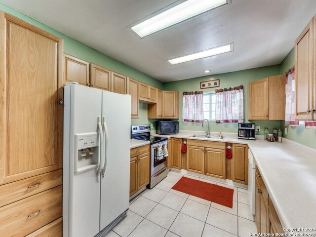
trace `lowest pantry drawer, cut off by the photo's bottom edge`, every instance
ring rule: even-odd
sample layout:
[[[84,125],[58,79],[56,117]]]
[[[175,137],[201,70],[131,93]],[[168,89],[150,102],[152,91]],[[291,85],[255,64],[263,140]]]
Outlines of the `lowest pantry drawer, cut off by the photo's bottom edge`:
[[[26,237],[62,237],[63,236],[63,219],[62,217],[43,226]]]

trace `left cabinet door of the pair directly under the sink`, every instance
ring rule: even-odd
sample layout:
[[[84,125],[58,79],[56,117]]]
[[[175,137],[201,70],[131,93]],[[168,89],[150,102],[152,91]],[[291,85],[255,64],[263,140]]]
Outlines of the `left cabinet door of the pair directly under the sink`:
[[[187,170],[204,174],[204,147],[187,146]]]

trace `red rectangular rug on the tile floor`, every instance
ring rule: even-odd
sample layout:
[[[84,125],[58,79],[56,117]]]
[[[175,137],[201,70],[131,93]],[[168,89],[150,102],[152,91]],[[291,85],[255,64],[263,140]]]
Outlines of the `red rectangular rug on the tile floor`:
[[[172,189],[233,208],[234,189],[182,177]]]

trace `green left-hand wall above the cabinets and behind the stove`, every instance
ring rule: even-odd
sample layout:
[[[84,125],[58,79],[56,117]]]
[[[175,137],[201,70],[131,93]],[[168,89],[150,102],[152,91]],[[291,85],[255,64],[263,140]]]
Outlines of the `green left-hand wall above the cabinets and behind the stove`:
[[[26,15],[23,15],[3,4],[0,4],[0,10],[5,11],[13,16],[16,16],[34,26],[37,26],[51,34],[54,34],[60,38],[64,39],[64,52],[71,54],[75,57],[83,59],[88,62],[95,63],[111,71],[115,71],[124,76],[142,81],[151,86],[155,86],[162,89],[163,83],[157,79],[154,79],[132,67],[129,67],[81,42],[70,38]],[[139,118],[132,118],[131,123],[134,124],[148,124],[150,121],[147,119],[147,104],[140,103],[139,105]]]

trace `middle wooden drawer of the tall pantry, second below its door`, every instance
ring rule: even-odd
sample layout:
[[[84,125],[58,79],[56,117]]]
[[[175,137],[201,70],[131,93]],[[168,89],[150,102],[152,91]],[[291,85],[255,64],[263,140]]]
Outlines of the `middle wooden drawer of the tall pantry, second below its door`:
[[[0,208],[0,236],[24,237],[62,216],[62,185]]]

